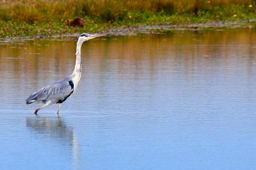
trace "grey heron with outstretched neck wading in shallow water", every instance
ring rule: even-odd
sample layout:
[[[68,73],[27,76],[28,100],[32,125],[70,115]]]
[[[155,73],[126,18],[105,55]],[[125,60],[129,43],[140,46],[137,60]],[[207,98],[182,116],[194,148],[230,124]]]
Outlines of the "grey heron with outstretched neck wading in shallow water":
[[[91,40],[96,37],[101,37],[103,35],[101,34],[81,34],[78,38],[78,41],[76,43],[76,65],[73,73],[64,78],[63,80],[56,81],[54,83],[49,84],[46,87],[43,87],[42,89],[36,91],[35,93],[32,93],[27,99],[26,104],[31,104],[33,102],[37,103],[44,103],[43,106],[35,110],[34,114],[37,114],[37,112],[48,106],[52,105],[54,103],[58,103],[57,108],[57,114],[59,114],[60,111],[60,105],[68,98],[70,95],[75,93],[77,84],[81,77],[81,46],[82,43]]]

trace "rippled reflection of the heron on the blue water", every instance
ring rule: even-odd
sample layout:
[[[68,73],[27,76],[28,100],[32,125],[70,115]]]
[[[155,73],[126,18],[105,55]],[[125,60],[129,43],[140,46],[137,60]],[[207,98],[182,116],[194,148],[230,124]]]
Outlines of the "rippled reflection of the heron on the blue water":
[[[63,142],[67,142],[67,145],[72,147],[74,169],[79,169],[80,146],[76,133],[73,127],[66,125],[61,120],[61,117],[58,117],[57,120],[54,119],[55,117],[27,117],[26,125],[43,136],[59,138]]]

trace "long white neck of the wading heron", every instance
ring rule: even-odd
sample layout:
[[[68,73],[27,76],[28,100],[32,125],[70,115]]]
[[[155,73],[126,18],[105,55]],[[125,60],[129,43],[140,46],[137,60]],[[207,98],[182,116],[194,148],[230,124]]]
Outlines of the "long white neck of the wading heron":
[[[73,73],[71,74],[73,83],[74,83],[74,92],[76,91],[77,84],[81,77],[81,66],[82,66],[82,59],[81,59],[81,46],[83,41],[78,40],[76,43],[76,65]]]

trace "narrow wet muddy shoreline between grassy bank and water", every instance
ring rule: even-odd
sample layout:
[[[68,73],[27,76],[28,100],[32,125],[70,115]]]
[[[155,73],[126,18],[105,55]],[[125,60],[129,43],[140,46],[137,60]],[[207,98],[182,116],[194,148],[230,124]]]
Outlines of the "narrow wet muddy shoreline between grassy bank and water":
[[[256,19],[245,19],[236,21],[217,21],[196,24],[161,24],[161,25],[138,25],[138,26],[123,26],[118,28],[108,28],[105,31],[98,32],[106,36],[127,36],[138,34],[167,34],[170,31],[200,31],[207,29],[218,28],[254,28]],[[91,32],[88,32],[91,33]],[[0,38],[0,42],[15,42],[23,40],[45,39],[45,38],[63,38],[63,37],[78,37],[80,33],[75,34],[57,34],[57,35],[39,35],[39,36],[24,36],[24,37],[8,37]]]

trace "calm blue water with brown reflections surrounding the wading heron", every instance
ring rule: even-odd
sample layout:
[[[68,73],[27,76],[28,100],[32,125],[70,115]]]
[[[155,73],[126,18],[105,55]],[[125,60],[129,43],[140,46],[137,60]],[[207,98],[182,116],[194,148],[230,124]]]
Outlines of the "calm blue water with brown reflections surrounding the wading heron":
[[[73,71],[76,41],[0,43],[0,169],[255,169],[256,30],[102,37],[76,94],[35,90]]]

